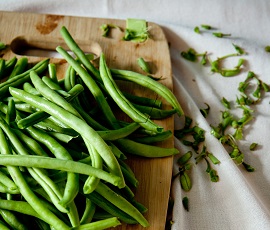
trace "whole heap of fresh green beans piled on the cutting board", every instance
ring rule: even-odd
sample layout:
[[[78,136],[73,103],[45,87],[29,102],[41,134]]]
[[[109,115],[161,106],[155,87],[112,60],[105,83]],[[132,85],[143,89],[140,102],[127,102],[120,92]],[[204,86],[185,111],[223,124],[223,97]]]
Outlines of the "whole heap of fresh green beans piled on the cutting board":
[[[159,82],[109,69],[104,54],[96,68],[65,27],[61,34],[76,55],[57,47],[69,63],[64,79],[57,78],[57,66],[49,59],[34,66],[25,57],[1,59],[0,228],[146,227],[147,208],[134,198],[138,180],[125,162],[126,154],[177,154],[175,148],[153,145],[172,132],[152,119],[181,116],[183,111]],[[172,109],[122,92],[115,79],[149,87]],[[131,122],[117,119],[114,106]]]

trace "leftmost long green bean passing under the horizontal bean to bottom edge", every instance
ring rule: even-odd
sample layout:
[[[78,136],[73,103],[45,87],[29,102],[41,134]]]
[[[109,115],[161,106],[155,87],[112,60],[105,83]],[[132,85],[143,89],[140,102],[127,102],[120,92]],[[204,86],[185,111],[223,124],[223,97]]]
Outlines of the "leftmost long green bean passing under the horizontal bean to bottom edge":
[[[0,129],[0,140],[1,140],[0,145],[1,156],[12,156],[2,129]],[[49,223],[50,225],[54,226],[56,229],[59,230],[69,229],[69,227],[62,220],[60,220],[57,216],[55,216],[48,208],[44,207],[40,199],[34,194],[34,192],[26,183],[18,167],[8,166],[8,170],[11,174],[12,179],[19,187],[20,192],[24,197],[24,199],[33,207],[33,209],[40,216],[44,217],[47,223]]]

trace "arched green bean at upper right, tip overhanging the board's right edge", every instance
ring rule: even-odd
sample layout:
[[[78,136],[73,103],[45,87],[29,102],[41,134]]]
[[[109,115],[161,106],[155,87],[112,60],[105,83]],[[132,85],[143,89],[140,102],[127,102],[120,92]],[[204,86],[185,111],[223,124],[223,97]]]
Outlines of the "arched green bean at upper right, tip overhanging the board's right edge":
[[[179,116],[184,115],[184,111],[181,108],[177,98],[174,94],[164,86],[163,84],[136,72],[128,71],[128,70],[118,70],[118,69],[111,69],[111,73],[115,79],[125,80],[125,81],[132,81],[144,87],[147,87],[158,95],[162,96],[164,99],[167,100],[171,106],[177,110],[177,114]]]

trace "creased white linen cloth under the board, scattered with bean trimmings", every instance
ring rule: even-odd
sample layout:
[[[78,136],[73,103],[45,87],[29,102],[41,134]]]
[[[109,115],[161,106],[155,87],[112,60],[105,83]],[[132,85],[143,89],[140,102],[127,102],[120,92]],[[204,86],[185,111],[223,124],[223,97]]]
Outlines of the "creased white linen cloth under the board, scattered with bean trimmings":
[[[264,0],[0,0],[0,10],[34,13],[63,14],[104,18],[142,18],[162,26],[170,42],[174,77],[174,93],[184,111],[206,130],[207,149],[214,153],[221,164],[215,166],[220,181],[210,182],[205,173],[206,165],[200,163],[192,168],[193,187],[183,192],[178,180],[172,184],[173,230],[267,230],[270,229],[270,105],[269,95],[254,108],[255,119],[245,130],[245,139],[240,148],[245,161],[256,171],[246,172],[235,165],[224,147],[210,134],[210,125],[220,121],[224,111],[220,100],[225,97],[235,101],[239,95],[238,83],[243,81],[249,70],[270,84],[270,53],[264,47],[270,45],[270,2]],[[227,38],[216,38],[211,32],[197,34],[195,26],[208,24]],[[1,38],[0,38],[1,40]],[[180,56],[189,47],[198,52],[208,51],[214,60],[235,52],[232,43],[242,47],[247,54],[243,72],[236,77],[224,78],[212,74],[209,66],[191,63]],[[239,57],[230,58],[226,66],[233,66]],[[199,109],[211,107],[205,119]],[[180,127],[175,119],[175,128]],[[249,145],[259,143],[259,149],[251,152]],[[177,139],[175,146],[184,153],[187,148]],[[177,156],[178,157],[178,156]],[[174,173],[177,165],[174,165]],[[182,198],[188,196],[189,212],[182,206]]]

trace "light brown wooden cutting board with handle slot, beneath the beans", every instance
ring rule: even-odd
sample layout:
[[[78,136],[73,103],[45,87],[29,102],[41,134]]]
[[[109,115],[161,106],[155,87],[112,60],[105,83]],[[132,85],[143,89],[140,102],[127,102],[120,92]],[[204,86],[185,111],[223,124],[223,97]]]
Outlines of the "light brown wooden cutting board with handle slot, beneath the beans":
[[[144,43],[133,43],[123,41],[123,31],[118,29],[113,29],[109,37],[103,37],[100,26],[104,23],[125,28],[125,20],[0,12],[0,41],[9,45],[8,49],[1,54],[5,59],[14,55],[18,57],[31,55],[28,58],[29,62],[33,63],[44,57],[50,57],[51,62],[57,64],[58,77],[62,78],[67,63],[60,56],[55,57],[55,48],[58,45],[66,48],[60,35],[60,28],[66,26],[85,52],[92,52],[98,57],[103,51],[108,66],[111,68],[141,72],[136,59],[143,57],[150,62],[154,76],[162,77],[161,82],[172,90],[168,43],[160,26],[149,22],[150,39]],[[137,95],[157,98],[153,92],[134,84],[127,84],[126,88]],[[170,108],[166,102],[163,104],[164,108]],[[157,123],[162,125],[165,130],[173,130],[173,118],[157,121]],[[173,138],[159,145],[173,147]],[[139,186],[135,191],[136,199],[148,208],[145,217],[151,226],[147,229],[164,230],[173,158],[145,159],[132,156],[128,156],[128,158],[128,163],[139,180]],[[138,225],[123,225],[117,229],[144,228]]]

